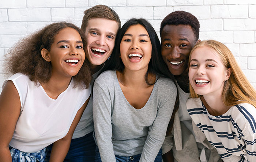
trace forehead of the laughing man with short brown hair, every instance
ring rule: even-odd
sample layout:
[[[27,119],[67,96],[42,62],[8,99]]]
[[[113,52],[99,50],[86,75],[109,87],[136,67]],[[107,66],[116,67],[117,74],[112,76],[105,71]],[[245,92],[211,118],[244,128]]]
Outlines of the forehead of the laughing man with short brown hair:
[[[114,20],[105,18],[91,18],[87,23],[86,30],[89,30],[90,28],[97,28],[100,31],[117,33],[118,23]]]

